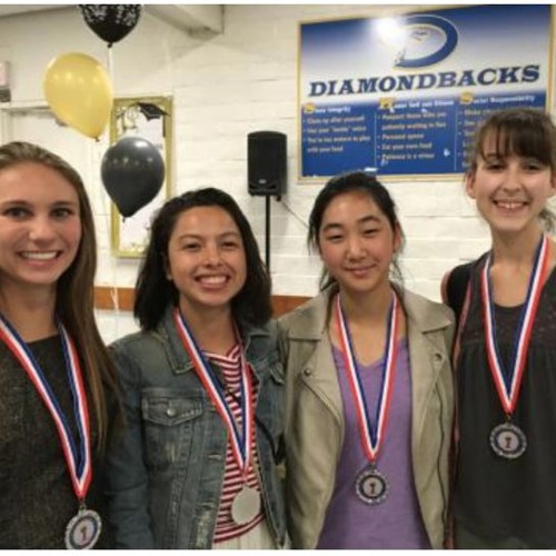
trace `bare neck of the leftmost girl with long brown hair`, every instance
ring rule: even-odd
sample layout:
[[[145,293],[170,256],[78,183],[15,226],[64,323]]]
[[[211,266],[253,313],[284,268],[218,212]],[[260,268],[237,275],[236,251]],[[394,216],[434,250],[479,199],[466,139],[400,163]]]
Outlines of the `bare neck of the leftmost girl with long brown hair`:
[[[48,338],[57,334],[54,321],[56,292],[0,290],[0,312],[26,341]]]

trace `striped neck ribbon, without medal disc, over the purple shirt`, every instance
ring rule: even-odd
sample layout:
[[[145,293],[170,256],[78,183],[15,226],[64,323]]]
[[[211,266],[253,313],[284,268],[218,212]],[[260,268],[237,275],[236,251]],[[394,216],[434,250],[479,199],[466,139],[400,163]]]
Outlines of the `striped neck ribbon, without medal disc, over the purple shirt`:
[[[399,325],[398,305],[399,305],[398,298],[394,294],[388,316],[388,329],[387,329],[386,346],[384,353],[385,363],[383,367],[380,396],[376,414],[376,430],[375,430],[373,428],[373,424],[369,418],[369,409],[363,389],[359,368],[355,359],[348,324],[344,316],[344,311],[341,310],[340,296],[338,295],[336,298],[336,319],[337,319],[338,330],[340,332],[339,336],[341,344],[341,355],[344,357],[344,366],[346,367],[348,384],[351,391],[351,397],[354,398],[355,403],[355,410],[357,416],[357,423],[359,425],[361,445],[366,456],[371,463],[376,460],[378,456],[378,450],[380,449],[380,446],[383,444],[386,430],[386,424],[388,420],[388,414],[390,409],[391,391],[394,386],[394,378],[396,375],[396,361],[398,356],[398,349],[397,349],[397,336],[398,336],[398,325]]]

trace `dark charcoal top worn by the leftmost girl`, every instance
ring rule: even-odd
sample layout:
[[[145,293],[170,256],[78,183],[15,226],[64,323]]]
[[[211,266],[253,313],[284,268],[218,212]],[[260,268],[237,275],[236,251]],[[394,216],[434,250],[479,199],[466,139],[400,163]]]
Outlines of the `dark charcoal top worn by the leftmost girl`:
[[[59,336],[28,345],[76,435],[73,403]],[[89,413],[90,410],[89,400]],[[95,429],[95,419],[91,429]],[[95,435],[95,434],[93,434]],[[92,448],[93,460],[97,458]],[[101,516],[98,461],[87,506]],[[68,522],[77,514],[58,431],[26,371],[0,341],[0,548],[64,548]],[[106,547],[103,534],[97,547]]]

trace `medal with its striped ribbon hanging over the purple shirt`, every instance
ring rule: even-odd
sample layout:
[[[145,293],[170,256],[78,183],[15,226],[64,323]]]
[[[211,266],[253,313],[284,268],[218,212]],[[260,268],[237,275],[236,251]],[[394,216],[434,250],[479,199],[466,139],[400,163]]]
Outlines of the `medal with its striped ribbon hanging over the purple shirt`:
[[[356,478],[355,492],[365,504],[379,504],[386,499],[389,485],[386,477],[376,468],[378,451],[385,436],[388,413],[390,409],[391,391],[396,376],[397,337],[398,337],[398,298],[394,294],[388,316],[388,329],[384,354],[380,396],[376,414],[376,428],[373,427],[367,408],[367,399],[363,389],[359,368],[351,347],[351,338],[347,320],[341,309],[340,296],[336,298],[336,318],[339,330],[341,355],[346,367],[347,379],[354,399],[357,424],[361,438],[363,449],[370,466],[365,468]]]

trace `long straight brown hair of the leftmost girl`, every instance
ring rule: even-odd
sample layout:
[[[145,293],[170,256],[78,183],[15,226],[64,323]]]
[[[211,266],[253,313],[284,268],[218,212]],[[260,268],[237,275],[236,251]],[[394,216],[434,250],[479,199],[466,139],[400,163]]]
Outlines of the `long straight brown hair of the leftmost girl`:
[[[56,312],[76,344],[92,403],[97,425],[97,448],[108,437],[109,408],[106,388],[116,393],[116,371],[95,320],[95,274],[97,239],[89,197],[79,173],[62,158],[33,143],[13,141],[0,147],[0,170],[21,163],[37,163],[60,173],[73,186],[79,199],[81,241],[76,258],[57,284]]]

